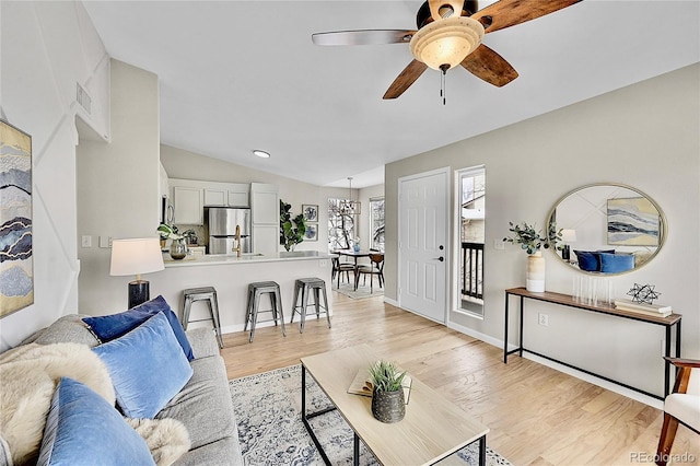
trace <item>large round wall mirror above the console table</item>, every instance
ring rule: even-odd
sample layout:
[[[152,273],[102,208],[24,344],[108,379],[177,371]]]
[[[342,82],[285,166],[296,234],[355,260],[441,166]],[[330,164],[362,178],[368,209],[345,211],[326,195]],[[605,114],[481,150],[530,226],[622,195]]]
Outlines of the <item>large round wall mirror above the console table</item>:
[[[644,193],[616,183],[576,188],[547,215],[561,231],[559,259],[585,273],[618,275],[642,267],[658,254],[666,238],[666,219]]]

